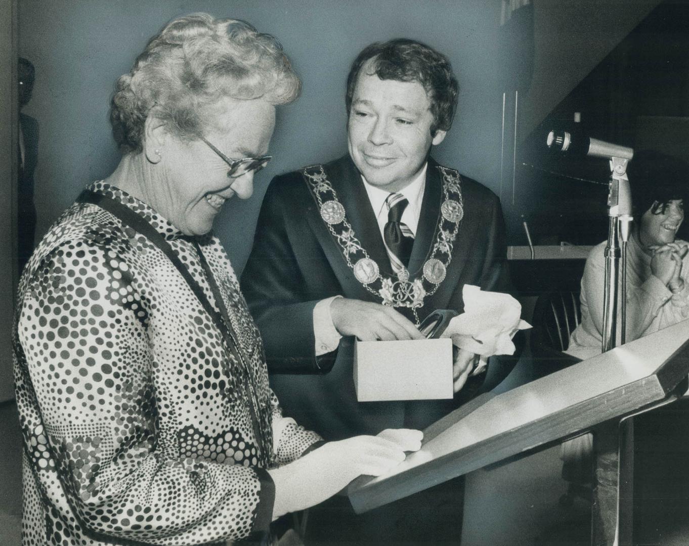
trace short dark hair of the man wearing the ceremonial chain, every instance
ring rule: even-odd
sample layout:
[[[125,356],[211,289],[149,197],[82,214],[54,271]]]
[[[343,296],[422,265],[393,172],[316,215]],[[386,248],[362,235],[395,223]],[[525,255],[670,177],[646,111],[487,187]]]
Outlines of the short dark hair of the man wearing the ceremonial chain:
[[[435,136],[438,129],[447,131],[452,126],[459,85],[450,61],[428,45],[406,38],[372,43],[354,60],[347,76],[347,116],[359,73],[369,60],[367,74],[376,74],[382,80],[418,82],[424,87],[433,114],[431,135]]]

